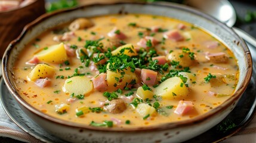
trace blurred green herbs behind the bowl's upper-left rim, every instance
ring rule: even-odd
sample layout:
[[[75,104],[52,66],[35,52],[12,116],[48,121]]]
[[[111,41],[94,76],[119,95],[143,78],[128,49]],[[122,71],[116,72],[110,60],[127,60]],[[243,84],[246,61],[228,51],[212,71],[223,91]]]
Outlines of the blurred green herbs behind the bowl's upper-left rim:
[[[48,3],[46,10],[47,10],[47,13],[51,13],[55,10],[72,8],[72,7],[75,7],[76,5],[78,5],[78,2],[76,0],[58,0],[56,2]]]

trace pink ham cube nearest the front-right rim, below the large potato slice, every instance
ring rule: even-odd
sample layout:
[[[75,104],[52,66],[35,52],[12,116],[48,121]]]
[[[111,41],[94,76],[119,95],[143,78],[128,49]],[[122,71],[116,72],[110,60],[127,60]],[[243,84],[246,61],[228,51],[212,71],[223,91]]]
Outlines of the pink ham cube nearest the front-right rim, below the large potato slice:
[[[194,107],[193,102],[191,101],[179,101],[178,106],[175,109],[174,113],[178,115],[184,115],[188,113],[190,110],[192,110]]]

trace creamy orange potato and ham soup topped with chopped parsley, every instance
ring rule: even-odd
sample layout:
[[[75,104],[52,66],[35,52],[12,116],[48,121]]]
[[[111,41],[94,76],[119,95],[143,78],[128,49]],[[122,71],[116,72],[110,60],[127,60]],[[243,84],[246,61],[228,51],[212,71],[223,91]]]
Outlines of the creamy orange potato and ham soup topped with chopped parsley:
[[[233,95],[232,52],[199,27],[156,15],[78,18],[34,39],[14,78],[57,119],[101,128],[189,120]]]

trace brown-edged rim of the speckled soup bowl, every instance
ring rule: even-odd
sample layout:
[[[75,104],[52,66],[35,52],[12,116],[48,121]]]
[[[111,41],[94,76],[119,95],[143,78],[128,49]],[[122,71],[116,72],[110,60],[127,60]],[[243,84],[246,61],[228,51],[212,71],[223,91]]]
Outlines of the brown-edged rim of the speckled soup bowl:
[[[237,40],[239,40],[240,46],[242,46],[243,51],[245,52],[245,58],[248,60],[248,66],[246,67],[246,76],[245,79],[243,79],[243,84],[240,86],[240,88],[226,101],[224,101],[221,105],[218,107],[212,109],[208,113],[202,114],[200,116],[197,116],[193,119],[189,120],[183,120],[179,122],[172,122],[172,123],[162,123],[159,125],[152,125],[152,126],[138,126],[138,127],[132,127],[132,128],[98,128],[90,125],[83,125],[81,123],[74,123],[74,122],[67,122],[66,120],[62,119],[57,119],[53,116],[50,116],[48,114],[42,113],[41,111],[37,110],[35,107],[32,107],[32,105],[28,104],[26,101],[23,100],[23,98],[20,97],[18,92],[16,91],[15,85],[11,84],[10,78],[8,78],[8,59],[10,57],[12,49],[17,45],[18,42],[20,42],[24,36],[26,35],[27,32],[29,32],[30,29],[32,29],[33,26],[36,26],[38,23],[41,23],[44,20],[47,20],[47,18],[57,16],[58,14],[63,14],[63,13],[69,13],[70,11],[76,11],[80,9],[84,9],[87,7],[94,7],[94,6],[100,6],[104,7],[105,5],[125,5],[125,4],[137,4],[137,5],[151,5],[151,6],[156,6],[156,7],[168,7],[168,8],[176,8],[178,10],[183,10],[187,11],[189,13],[193,13],[196,15],[199,15],[203,18],[206,18],[207,20],[210,20],[219,26],[221,26],[223,29],[227,30],[228,32],[233,34],[233,37],[235,37]],[[8,48],[5,50],[4,57],[2,59],[2,73],[3,73],[3,78],[5,81],[5,84],[7,85],[8,90],[11,92],[11,95],[18,101],[20,105],[25,107],[27,110],[32,112],[38,117],[41,117],[41,119],[48,120],[53,123],[57,123],[63,126],[68,126],[70,128],[79,128],[79,129],[88,129],[88,130],[97,130],[97,131],[104,131],[104,132],[145,132],[145,131],[156,131],[156,130],[166,130],[166,129],[174,129],[174,128],[183,128],[184,126],[189,126],[189,125],[196,125],[198,123],[202,123],[207,119],[210,119],[212,116],[215,116],[217,113],[221,113],[221,111],[225,110],[227,107],[229,107],[231,104],[235,105],[235,101],[238,100],[243,92],[245,91],[246,87],[249,84],[249,81],[251,80],[252,76],[252,57],[251,53],[249,52],[249,49],[245,42],[240,39],[240,37],[234,32],[233,29],[230,27],[227,27],[226,24],[221,23],[214,17],[211,17],[208,14],[202,13],[198,10],[195,10],[194,8],[187,7],[185,5],[180,5],[180,4],[173,4],[170,2],[157,2],[154,4],[149,4],[149,3],[144,3],[144,2],[112,2],[108,4],[89,4],[89,5],[82,5],[80,7],[76,8],[70,8],[67,10],[59,10],[55,11],[54,13],[49,13],[49,14],[44,14],[38,17],[36,20],[32,21],[32,23],[27,24],[23,31],[21,32],[20,36],[18,36],[17,39],[12,41],[10,45],[8,45]]]

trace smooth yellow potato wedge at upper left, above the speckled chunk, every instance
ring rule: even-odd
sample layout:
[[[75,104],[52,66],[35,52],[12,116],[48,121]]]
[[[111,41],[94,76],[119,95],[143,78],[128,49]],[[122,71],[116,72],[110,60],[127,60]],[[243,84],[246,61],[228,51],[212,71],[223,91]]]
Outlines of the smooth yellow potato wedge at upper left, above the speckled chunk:
[[[47,63],[60,64],[67,60],[67,54],[63,43],[50,46],[47,49],[41,49],[35,56],[38,57],[39,60]]]

